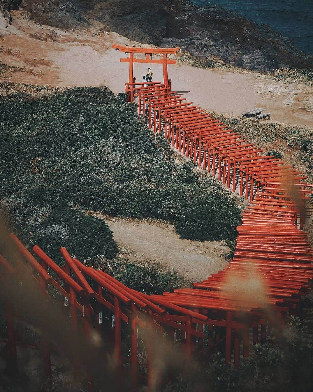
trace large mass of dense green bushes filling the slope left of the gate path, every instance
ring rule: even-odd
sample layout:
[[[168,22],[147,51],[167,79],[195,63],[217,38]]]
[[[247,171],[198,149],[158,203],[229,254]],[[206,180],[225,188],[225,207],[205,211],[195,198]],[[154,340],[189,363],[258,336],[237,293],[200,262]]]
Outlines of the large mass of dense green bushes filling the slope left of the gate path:
[[[11,93],[0,100],[0,125],[2,214],[56,260],[61,245],[82,260],[117,254],[108,226],[85,209],[173,221],[183,238],[236,238],[234,196],[193,163],[175,164],[124,94]]]

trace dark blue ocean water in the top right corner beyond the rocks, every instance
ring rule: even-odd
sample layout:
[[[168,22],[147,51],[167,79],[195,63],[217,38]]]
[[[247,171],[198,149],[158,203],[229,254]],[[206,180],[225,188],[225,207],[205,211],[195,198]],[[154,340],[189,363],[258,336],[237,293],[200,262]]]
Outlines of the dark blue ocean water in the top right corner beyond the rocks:
[[[196,5],[221,5],[253,22],[269,24],[313,54],[313,0],[191,0]]]

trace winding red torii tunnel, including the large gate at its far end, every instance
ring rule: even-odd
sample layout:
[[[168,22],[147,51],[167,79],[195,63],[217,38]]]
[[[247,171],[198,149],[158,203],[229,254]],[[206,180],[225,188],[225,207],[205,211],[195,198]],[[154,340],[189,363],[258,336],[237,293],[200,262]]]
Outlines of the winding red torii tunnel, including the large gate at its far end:
[[[60,307],[70,315],[73,333],[80,331],[88,339],[92,330],[97,330],[112,345],[117,377],[126,374],[130,390],[144,383],[151,392],[159,390],[157,383],[162,381],[162,377],[155,377],[154,334],[165,339],[167,347],[179,346],[176,349],[183,350],[188,361],[205,364],[214,352],[222,352],[226,363],[237,368],[239,359],[249,356],[252,344],[270,338],[270,327],[280,328],[290,315],[301,315],[301,298],[311,290],[313,279],[313,251],[303,230],[305,202],[312,185],[288,163],[264,155],[262,149],[218,118],[171,91],[167,64],[175,62],[167,59],[167,54],[179,48],[113,45],[113,49],[130,54],[121,59],[130,63],[129,81],[125,83],[128,100],[137,100],[138,114],[146,118],[149,128],[162,135],[164,132],[176,151],[249,201],[237,227],[234,257],[226,268],[194,283],[193,288],[146,295],[102,270],[86,267],[65,248],[60,250],[65,266],[59,267],[44,250],[34,246],[30,252],[11,234],[7,243],[20,255],[11,257],[10,262],[0,255],[0,279],[2,290],[16,288],[21,295],[30,279],[48,303],[50,296],[56,301],[58,292]],[[135,58],[135,53],[144,54],[145,59]],[[162,60],[153,60],[153,54],[162,55]],[[136,83],[136,62],[163,64],[163,83]],[[251,277],[264,286],[262,303],[255,295],[248,298],[248,294],[245,301],[239,300],[236,292],[227,289],[232,279],[245,287]],[[9,366],[17,367],[16,347],[39,348],[45,375],[50,376],[51,353],[56,347],[49,334],[41,336],[41,343],[23,343],[16,320],[31,324],[34,318],[19,309],[11,296],[4,297],[4,301],[2,317],[7,323],[7,338],[1,343],[8,345]],[[150,332],[140,338],[140,331],[148,327]],[[130,341],[122,328],[129,331]],[[142,356],[139,361],[139,339],[145,341],[146,361]],[[82,358],[76,358],[73,368],[76,376],[86,377],[88,391],[93,391],[93,367],[84,366]]]

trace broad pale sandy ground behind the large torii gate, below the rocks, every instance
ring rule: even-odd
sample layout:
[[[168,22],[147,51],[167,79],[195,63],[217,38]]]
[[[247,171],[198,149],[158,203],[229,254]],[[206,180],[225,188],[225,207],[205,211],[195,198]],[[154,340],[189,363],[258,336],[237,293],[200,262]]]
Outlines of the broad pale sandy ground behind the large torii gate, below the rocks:
[[[20,15],[22,14],[22,15]],[[0,37],[0,58],[14,71],[13,82],[51,86],[108,86],[124,91],[128,64],[119,62],[124,53],[112,44],[138,45],[117,33],[76,33],[39,26],[25,20],[23,11],[13,15],[14,24]],[[0,32],[1,33],[1,32]],[[3,33],[3,31],[2,31]],[[153,68],[154,80],[162,80],[162,66]],[[134,75],[142,80],[145,64],[135,64]],[[312,89],[273,82],[253,72],[233,73],[190,65],[169,65],[172,88],[203,109],[240,116],[254,107],[264,107],[272,120],[312,127],[313,113],[301,109]]]

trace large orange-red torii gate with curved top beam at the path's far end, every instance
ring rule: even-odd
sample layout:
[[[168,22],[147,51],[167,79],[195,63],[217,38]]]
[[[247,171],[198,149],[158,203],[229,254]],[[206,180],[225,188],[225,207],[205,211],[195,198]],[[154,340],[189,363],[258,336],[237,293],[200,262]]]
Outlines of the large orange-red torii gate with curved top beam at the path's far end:
[[[176,60],[171,60],[167,58],[167,54],[175,54],[180,50],[180,47],[176,48],[142,48],[142,47],[130,47],[130,46],[121,46],[115,45],[112,46],[113,49],[118,49],[120,52],[129,53],[130,56],[127,58],[121,58],[120,61],[122,63],[129,63],[129,78],[128,83],[133,83],[133,70],[134,63],[146,63],[146,64],[163,64],[163,77],[164,84],[169,85],[168,75],[167,75],[167,64],[176,64]],[[144,58],[136,58],[134,57],[134,53],[144,53]],[[162,54],[162,58],[160,59],[152,59],[153,54]]]

